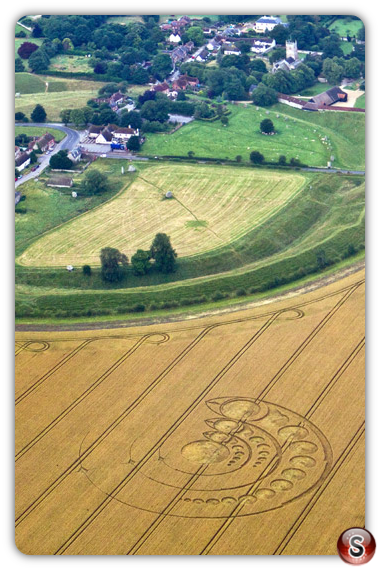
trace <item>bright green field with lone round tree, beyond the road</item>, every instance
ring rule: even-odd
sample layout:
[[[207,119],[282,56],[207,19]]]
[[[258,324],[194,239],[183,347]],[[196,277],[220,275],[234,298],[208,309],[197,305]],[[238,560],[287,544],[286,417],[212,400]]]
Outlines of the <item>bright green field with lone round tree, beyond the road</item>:
[[[297,158],[309,166],[326,166],[333,155],[338,168],[364,168],[365,117],[359,113],[308,113],[281,104],[269,111],[253,105],[229,108],[228,126],[193,121],[171,135],[148,134],[141,153],[187,156],[192,151],[200,157],[234,160],[240,155],[248,161],[250,153],[258,150],[267,162],[285,155],[288,161]],[[274,136],[261,134],[265,118],[272,120]]]

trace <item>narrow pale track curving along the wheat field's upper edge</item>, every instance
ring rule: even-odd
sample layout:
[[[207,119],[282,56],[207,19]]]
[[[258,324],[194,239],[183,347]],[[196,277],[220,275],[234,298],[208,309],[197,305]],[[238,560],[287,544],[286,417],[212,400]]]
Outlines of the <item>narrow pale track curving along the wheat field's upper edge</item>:
[[[48,325],[48,324],[19,324],[15,326],[16,331],[84,331],[84,330],[98,330],[98,329],[117,329],[117,328],[129,328],[134,326],[148,326],[154,324],[163,323],[173,323],[178,321],[187,321],[191,319],[198,319],[202,317],[209,317],[215,315],[222,315],[226,313],[234,313],[236,311],[241,311],[244,309],[251,309],[254,307],[259,307],[261,305],[267,305],[278,301],[281,299],[288,299],[298,295],[303,295],[309,291],[314,291],[320,287],[325,287],[335,281],[339,281],[352,273],[356,273],[365,267],[365,260],[357,261],[356,263],[341,269],[331,275],[325,277],[319,277],[306,285],[300,285],[298,287],[292,287],[284,293],[279,295],[268,296],[260,301],[250,301],[242,302],[230,307],[224,307],[222,309],[210,309],[198,313],[181,313],[180,315],[168,315],[167,317],[147,317],[135,320],[117,320],[117,321],[102,321],[102,322],[88,322],[88,323],[70,323],[70,324],[59,324],[59,325]]]

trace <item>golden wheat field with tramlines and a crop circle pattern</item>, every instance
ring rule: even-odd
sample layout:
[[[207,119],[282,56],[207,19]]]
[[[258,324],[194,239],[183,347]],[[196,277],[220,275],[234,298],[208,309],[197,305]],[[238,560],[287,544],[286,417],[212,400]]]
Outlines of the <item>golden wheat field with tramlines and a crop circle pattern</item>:
[[[28,555],[325,555],[364,526],[364,273],[245,310],[16,332]]]

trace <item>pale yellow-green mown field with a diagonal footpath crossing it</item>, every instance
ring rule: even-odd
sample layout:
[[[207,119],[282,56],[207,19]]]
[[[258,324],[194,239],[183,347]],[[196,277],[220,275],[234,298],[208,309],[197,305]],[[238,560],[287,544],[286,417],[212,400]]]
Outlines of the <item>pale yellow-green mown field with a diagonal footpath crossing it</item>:
[[[27,266],[99,265],[103,247],[130,258],[167,233],[179,256],[199,255],[244,236],[304,186],[297,173],[218,166],[145,168],[113,200],[41,237],[18,259]],[[167,191],[173,198],[166,199]]]

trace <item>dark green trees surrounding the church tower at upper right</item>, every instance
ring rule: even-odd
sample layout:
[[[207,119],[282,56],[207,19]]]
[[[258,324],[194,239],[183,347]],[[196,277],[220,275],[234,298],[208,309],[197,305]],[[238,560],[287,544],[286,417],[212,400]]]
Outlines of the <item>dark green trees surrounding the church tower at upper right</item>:
[[[222,17],[221,17],[222,18]],[[225,18],[223,16],[223,18]],[[229,16],[230,21],[253,16]],[[241,55],[217,56],[217,67],[206,67],[201,63],[185,63],[183,73],[199,78],[206,86],[209,97],[226,99],[249,99],[248,90],[252,84],[258,87],[253,91],[252,99],[256,105],[267,106],[277,101],[276,92],[294,94],[313,85],[318,75],[323,72],[328,81],[339,84],[341,78],[364,76],[364,48],[356,44],[355,51],[344,56],[340,47],[340,37],[326,26],[339,16],[287,16],[289,26],[276,26],[268,35],[280,45],[291,38],[296,40],[299,49],[321,52],[321,55],[307,55],[303,63],[293,71],[269,73],[265,63],[259,59],[250,59],[249,46],[236,39]],[[364,28],[363,28],[364,29]],[[358,34],[361,37],[362,34]],[[285,49],[270,52],[270,63],[285,57]]]

